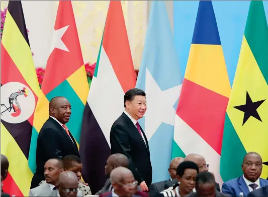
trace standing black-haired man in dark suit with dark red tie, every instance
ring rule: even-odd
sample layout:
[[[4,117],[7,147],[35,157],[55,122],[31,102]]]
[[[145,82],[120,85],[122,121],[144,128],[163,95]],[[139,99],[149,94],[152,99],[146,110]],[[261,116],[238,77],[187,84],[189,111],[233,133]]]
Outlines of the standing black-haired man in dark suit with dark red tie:
[[[124,96],[124,106],[125,111],[111,128],[111,152],[128,157],[129,169],[134,169],[133,174],[140,182],[141,189],[148,191],[152,182],[150,150],[145,133],[137,121],[147,109],[145,92],[137,88],[128,90]]]

